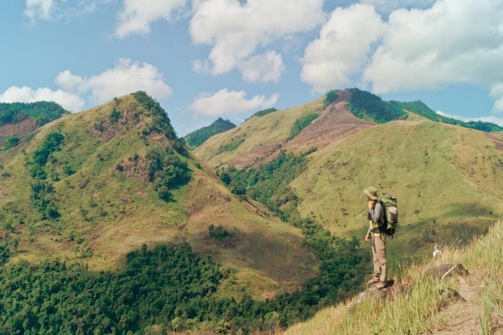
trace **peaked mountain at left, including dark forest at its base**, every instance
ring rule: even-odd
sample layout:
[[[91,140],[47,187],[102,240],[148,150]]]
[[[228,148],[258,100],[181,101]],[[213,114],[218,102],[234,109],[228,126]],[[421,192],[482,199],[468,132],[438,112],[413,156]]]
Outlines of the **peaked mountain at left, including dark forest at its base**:
[[[144,92],[45,125],[0,163],[7,333],[246,333],[363,280],[358,241],[230,190]]]

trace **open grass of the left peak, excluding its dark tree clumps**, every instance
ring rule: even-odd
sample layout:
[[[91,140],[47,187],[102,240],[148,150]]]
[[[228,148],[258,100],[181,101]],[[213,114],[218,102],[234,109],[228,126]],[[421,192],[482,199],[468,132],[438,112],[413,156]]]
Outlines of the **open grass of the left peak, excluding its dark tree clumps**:
[[[141,128],[151,122],[147,112],[132,96],[120,101],[118,110],[130,119],[125,126],[121,119],[104,132],[94,128],[100,120],[106,124],[113,107],[110,102],[46,125],[31,141],[25,141],[8,155],[0,155],[0,162],[5,165],[4,176],[0,177],[0,207],[8,209],[4,212],[14,221],[16,234],[21,237],[15,260],[58,256],[73,261],[75,256],[70,248],[75,243],[69,241],[69,236],[74,235],[91,244],[94,256],[85,261],[92,269],[114,269],[127,252],[143,243],[187,240],[195,250],[236,268],[238,284],[256,297],[295,288],[315,275],[318,263],[304,250],[298,231],[276,219],[265,219],[255,213],[254,206],[232,198],[204,164],[200,170],[195,167],[196,161],[189,159],[194,178],[173,192],[171,202],[160,200],[152,185],[142,184],[141,178],[114,172],[117,164],[135,153],[141,157],[153,146],[167,145],[157,135],[141,139]],[[61,181],[54,182],[61,213],[58,221],[40,220],[29,199],[32,178],[24,166],[25,159],[53,131],[60,131],[65,137],[61,151],[54,156],[76,171],[70,176],[58,171]],[[201,179],[204,184],[199,182]],[[81,188],[84,180],[89,182]],[[215,190],[230,201],[208,201]],[[204,208],[194,210],[194,202],[204,203]],[[23,225],[19,225],[19,219],[24,220]],[[215,245],[207,239],[210,224],[236,227],[242,238],[230,246]]]

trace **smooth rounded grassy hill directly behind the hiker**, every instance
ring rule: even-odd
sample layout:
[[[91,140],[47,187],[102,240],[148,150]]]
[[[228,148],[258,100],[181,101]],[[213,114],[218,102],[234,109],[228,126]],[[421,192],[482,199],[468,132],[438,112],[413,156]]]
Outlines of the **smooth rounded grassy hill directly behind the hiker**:
[[[311,157],[308,170],[291,183],[301,199],[300,212],[316,216],[336,235],[361,238],[368,227],[363,189],[374,185],[394,194],[401,224],[389,244],[395,260],[480,234],[503,206],[503,169],[496,164],[503,152],[482,132],[393,122],[334,142]]]

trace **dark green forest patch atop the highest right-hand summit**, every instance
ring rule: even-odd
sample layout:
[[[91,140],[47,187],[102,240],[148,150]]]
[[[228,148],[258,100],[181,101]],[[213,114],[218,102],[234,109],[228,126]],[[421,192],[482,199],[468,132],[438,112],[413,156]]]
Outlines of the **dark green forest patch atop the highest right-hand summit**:
[[[375,94],[358,88],[351,88],[349,91],[352,94],[348,106],[351,113],[357,118],[382,124],[406,117],[399,106],[383,101]]]

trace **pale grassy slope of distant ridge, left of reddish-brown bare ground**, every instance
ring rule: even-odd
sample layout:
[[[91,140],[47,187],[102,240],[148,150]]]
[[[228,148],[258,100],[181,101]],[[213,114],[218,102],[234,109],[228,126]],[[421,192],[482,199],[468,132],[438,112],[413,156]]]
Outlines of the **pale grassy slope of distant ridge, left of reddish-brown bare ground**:
[[[323,100],[324,96],[301,106],[252,117],[235,129],[213,136],[194,150],[194,154],[210,166],[218,167],[263,145],[286,141],[295,120],[309,113],[318,113],[323,108]],[[218,153],[220,146],[231,139],[245,140],[233,151]]]

